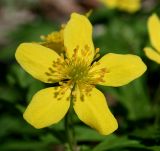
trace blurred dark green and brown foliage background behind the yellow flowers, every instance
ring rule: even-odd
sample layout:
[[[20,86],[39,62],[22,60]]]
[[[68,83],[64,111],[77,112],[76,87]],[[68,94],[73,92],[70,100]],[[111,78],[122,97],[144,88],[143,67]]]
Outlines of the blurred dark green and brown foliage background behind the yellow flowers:
[[[0,0],[0,151],[68,150],[64,120],[37,130],[23,119],[33,94],[46,85],[27,74],[14,53],[21,42],[39,42],[41,35],[59,30],[71,12],[90,9],[101,54],[139,55],[148,70],[126,86],[98,87],[119,122],[114,134],[102,136],[73,115],[77,151],[160,151],[160,65],[143,52],[150,45],[147,19],[154,12],[160,16],[158,0],[143,0],[136,13],[111,10],[96,0]]]

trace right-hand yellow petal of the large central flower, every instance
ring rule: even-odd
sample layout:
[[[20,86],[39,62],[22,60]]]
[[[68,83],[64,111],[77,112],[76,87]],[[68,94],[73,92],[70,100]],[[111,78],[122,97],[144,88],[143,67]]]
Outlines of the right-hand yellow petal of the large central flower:
[[[121,55],[109,53],[103,56],[99,65],[92,70],[105,68],[106,74],[103,82],[99,84],[105,86],[122,86],[140,77],[146,71],[146,65],[140,57],[136,55]]]

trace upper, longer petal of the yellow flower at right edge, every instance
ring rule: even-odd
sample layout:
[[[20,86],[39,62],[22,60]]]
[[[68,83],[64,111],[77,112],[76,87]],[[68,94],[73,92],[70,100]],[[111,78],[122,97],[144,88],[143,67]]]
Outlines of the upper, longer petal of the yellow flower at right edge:
[[[160,52],[160,20],[156,14],[149,17],[148,30],[152,46]]]

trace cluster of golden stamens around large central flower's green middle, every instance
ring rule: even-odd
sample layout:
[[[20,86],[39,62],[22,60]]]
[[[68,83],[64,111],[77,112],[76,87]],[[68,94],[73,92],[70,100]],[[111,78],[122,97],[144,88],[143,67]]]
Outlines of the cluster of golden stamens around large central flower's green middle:
[[[91,95],[90,92],[97,83],[104,82],[104,76],[108,70],[99,68],[99,62],[88,64],[86,58],[91,52],[88,45],[85,45],[83,49],[76,46],[71,58],[65,58],[63,54],[60,54],[60,57],[53,61],[48,71],[45,72],[49,82],[60,81],[61,90],[57,90],[55,94],[58,100],[62,99],[68,88],[73,89],[73,85],[77,85],[80,90],[80,100],[84,101],[85,95]],[[96,48],[94,59],[99,56],[99,48]],[[55,77],[56,80],[54,80]],[[66,79],[68,81],[62,81]],[[71,92],[71,97],[74,101],[76,100],[76,90]]]

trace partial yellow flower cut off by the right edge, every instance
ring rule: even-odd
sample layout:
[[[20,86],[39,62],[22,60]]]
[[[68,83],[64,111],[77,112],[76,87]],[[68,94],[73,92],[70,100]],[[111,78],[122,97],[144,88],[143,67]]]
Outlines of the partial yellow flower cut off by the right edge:
[[[148,31],[153,48],[146,47],[144,52],[149,59],[160,64],[160,20],[156,14],[148,19]]]

